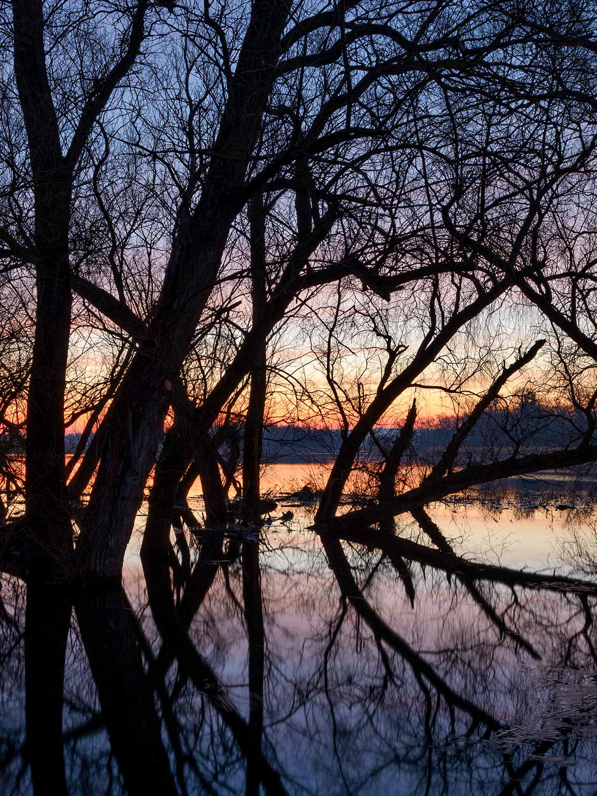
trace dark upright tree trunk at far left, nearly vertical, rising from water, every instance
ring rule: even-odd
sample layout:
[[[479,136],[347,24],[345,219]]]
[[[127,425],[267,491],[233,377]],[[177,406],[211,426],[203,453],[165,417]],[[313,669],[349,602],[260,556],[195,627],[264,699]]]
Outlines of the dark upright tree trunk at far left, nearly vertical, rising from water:
[[[27,401],[25,498],[32,575],[68,566],[72,528],[64,474],[64,384],[72,293],[68,263],[71,175],[45,66],[40,0],[15,0],[14,73],[33,175],[37,310]]]

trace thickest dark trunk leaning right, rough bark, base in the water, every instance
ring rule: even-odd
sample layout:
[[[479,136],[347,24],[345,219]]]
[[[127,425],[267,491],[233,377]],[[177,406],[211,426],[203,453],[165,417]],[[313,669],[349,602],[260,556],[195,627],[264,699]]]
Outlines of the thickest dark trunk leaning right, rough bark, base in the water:
[[[115,396],[114,416],[76,549],[77,564],[117,577],[142,490],[162,439],[172,384],[213,288],[228,231],[242,208],[249,159],[276,76],[289,10],[258,0],[229,85],[197,207],[181,225],[146,341]],[[183,468],[184,472],[184,468]]]

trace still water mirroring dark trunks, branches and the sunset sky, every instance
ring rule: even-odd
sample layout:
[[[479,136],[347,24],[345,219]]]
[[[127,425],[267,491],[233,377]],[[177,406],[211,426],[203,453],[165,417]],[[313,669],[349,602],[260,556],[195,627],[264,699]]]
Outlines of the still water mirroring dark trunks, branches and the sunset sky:
[[[122,589],[40,587],[26,612],[4,576],[0,793],[597,792],[586,491],[429,506],[443,552],[410,515],[339,540],[312,510],[173,533],[166,571],[143,567],[139,517]]]

